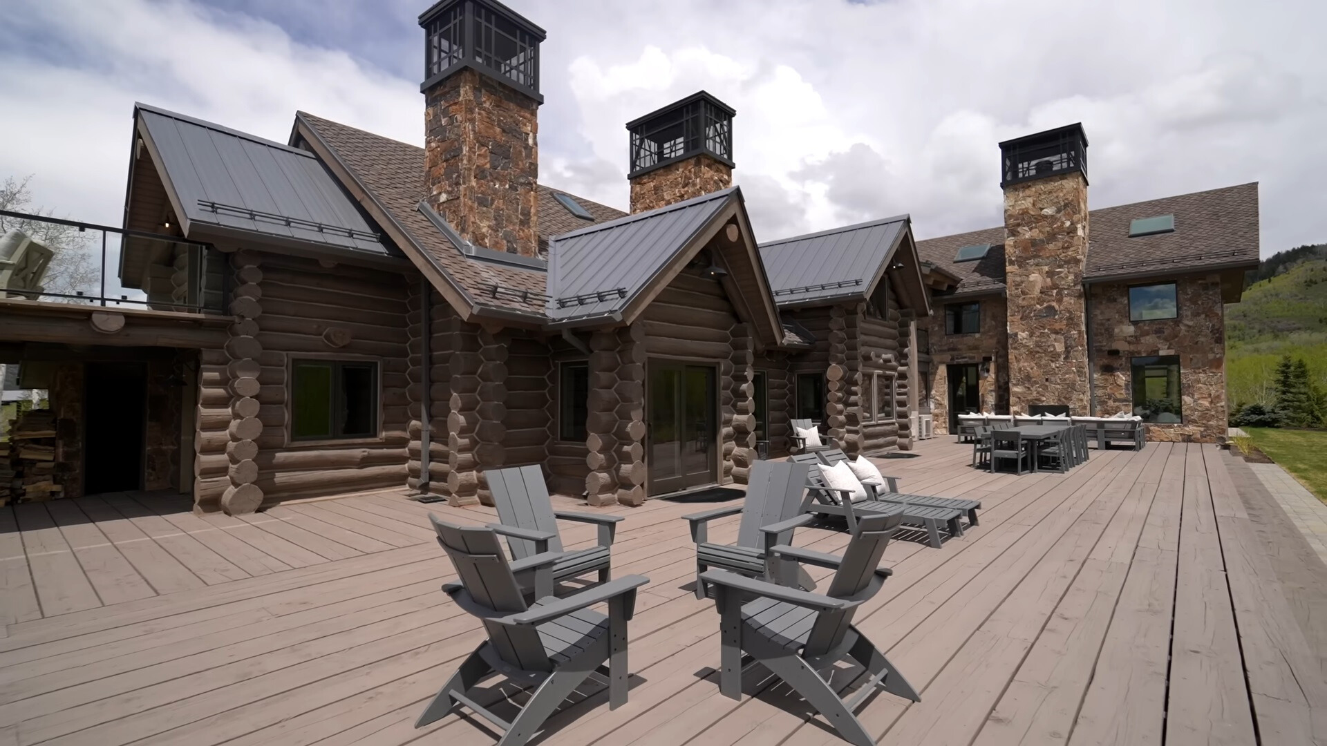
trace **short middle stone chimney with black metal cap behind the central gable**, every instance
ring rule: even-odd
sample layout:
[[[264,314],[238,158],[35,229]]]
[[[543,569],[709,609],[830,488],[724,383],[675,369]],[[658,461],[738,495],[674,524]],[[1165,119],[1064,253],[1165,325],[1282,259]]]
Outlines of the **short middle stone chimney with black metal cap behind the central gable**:
[[[702,90],[628,122],[632,214],[733,186],[735,115]]]

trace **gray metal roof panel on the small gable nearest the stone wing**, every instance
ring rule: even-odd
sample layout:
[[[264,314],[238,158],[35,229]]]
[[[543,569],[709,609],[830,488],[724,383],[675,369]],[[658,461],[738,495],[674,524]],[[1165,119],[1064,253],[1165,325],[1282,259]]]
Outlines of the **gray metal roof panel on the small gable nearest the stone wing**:
[[[865,296],[906,228],[908,215],[900,215],[762,244],[775,303]]]

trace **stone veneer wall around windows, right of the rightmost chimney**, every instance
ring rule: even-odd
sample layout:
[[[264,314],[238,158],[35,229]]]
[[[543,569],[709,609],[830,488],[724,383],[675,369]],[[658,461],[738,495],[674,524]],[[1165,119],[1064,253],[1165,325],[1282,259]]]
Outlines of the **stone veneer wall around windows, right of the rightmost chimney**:
[[[1096,414],[1132,411],[1131,357],[1180,356],[1184,422],[1148,425],[1149,441],[1217,442],[1226,434],[1225,308],[1221,276],[1176,280],[1178,319],[1129,321],[1127,284],[1095,284],[1092,358]],[[1107,350],[1120,354],[1107,354]]]

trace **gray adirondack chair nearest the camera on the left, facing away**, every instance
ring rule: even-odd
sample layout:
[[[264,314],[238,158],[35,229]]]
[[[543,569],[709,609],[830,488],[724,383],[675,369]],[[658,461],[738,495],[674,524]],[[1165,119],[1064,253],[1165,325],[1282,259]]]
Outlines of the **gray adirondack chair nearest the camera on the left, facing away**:
[[[460,577],[442,589],[483,621],[488,640],[460,664],[415,727],[464,706],[503,731],[499,746],[522,746],[596,672],[608,677],[609,709],[626,704],[626,623],[636,608],[636,589],[649,577],[628,575],[565,599],[545,596],[527,604],[495,530],[455,526],[433,514],[429,520]],[[602,603],[608,604],[606,616],[591,611]],[[470,694],[492,673],[522,689],[535,688],[511,722]]]

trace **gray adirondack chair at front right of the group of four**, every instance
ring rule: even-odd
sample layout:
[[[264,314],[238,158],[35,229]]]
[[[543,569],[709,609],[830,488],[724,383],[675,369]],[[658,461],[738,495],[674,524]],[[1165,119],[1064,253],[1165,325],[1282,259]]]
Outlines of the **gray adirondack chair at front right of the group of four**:
[[[714,585],[719,609],[722,668],[719,692],[742,698],[742,670],[759,662],[795,689],[812,708],[856,746],[873,739],[853,714],[877,689],[920,702],[921,697],[878,648],[852,625],[857,607],[880,591],[888,569],[877,567],[901,515],[864,515],[843,558],[776,546],[780,558],[835,571],[829,589],[807,593],[722,569],[705,573]],[[755,596],[755,600],[747,600]],[[748,657],[744,658],[743,653]],[[848,700],[840,698],[820,672],[832,674],[845,657],[865,669],[868,681]]]

